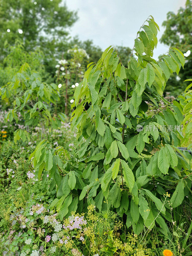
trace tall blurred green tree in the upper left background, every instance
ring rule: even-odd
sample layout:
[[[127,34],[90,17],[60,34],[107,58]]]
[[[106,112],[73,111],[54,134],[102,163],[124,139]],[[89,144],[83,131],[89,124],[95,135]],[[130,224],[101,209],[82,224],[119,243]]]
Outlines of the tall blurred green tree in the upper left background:
[[[0,60],[19,39],[25,51],[37,46],[43,50],[44,64],[51,71],[55,66],[52,60],[67,48],[67,29],[76,20],[76,12],[68,11],[62,0],[0,0]]]

